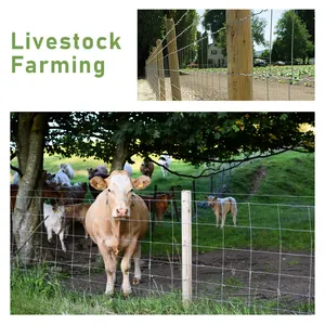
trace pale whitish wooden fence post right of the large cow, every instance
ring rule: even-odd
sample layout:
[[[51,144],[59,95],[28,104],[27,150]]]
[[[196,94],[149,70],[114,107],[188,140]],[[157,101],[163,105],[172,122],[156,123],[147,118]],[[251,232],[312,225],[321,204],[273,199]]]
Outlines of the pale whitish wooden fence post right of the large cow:
[[[192,301],[192,209],[191,191],[182,191],[182,301]]]

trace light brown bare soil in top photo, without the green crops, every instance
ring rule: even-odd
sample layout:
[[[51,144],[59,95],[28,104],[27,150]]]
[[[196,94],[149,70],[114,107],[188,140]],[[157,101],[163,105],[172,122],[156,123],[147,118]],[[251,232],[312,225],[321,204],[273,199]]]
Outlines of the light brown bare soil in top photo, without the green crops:
[[[226,101],[227,78],[224,74],[193,73],[181,76],[182,100],[183,101]],[[166,99],[171,100],[170,78],[165,79]],[[155,100],[156,95],[148,82],[144,79],[138,80],[138,100]],[[314,82],[310,86],[278,82],[277,79],[253,80],[255,101],[314,101]]]

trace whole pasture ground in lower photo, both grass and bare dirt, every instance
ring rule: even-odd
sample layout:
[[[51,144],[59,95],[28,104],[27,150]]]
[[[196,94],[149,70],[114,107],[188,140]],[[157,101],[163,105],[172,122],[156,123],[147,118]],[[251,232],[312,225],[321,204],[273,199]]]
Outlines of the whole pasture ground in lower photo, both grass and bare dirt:
[[[136,177],[140,174],[141,159],[132,159],[133,177]],[[76,176],[73,182],[87,181],[87,168],[102,164],[94,159],[84,161],[73,157],[60,160],[57,156],[46,156],[44,169],[55,172],[61,162],[70,164],[74,168]],[[171,169],[180,173],[198,174],[204,166],[193,167],[173,160]],[[313,284],[309,278],[314,276],[314,154],[289,152],[272,158],[253,160],[232,172],[225,171],[214,176],[213,188],[226,184],[225,195],[231,195],[237,200],[236,227],[233,225],[232,216],[229,214],[224,230],[216,229],[214,214],[205,206],[205,196],[210,193],[210,178],[195,180],[196,200],[193,206],[192,226],[193,262],[196,265],[193,265],[195,299],[188,310],[181,307],[179,291],[181,224],[170,205],[164,221],[160,224],[156,222],[154,229],[152,227],[154,231],[148,232],[143,240],[143,284],[134,288],[134,296],[127,302],[121,301],[119,294],[114,298],[102,297],[105,271],[95,250],[90,259],[89,248],[86,251],[80,249],[80,230],[75,237],[68,236],[66,253],[61,251],[57,242],[51,244],[52,247],[56,247],[55,262],[49,260],[43,268],[52,271],[48,272],[39,266],[40,269],[32,274],[12,274],[12,313],[263,314],[277,313],[278,310],[281,313],[313,312],[312,301],[308,302],[299,295],[308,289],[313,295]],[[180,193],[182,190],[192,190],[193,180],[173,174],[162,178],[160,168],[155,166],[152,184],[139,194],[153,193],[155,185],[158,192],[170,191],[171,186],[176,188],[176,203],[180,216]],[[90,198],[88,195],[87,199]],[[52,250],[53,258],[54,251]],[[281,269],[280,253],[283,257]],[[249,268],[256,272],[250,283],[247,275]],[[235,273],[231,270],[235,270]],[[290,275],[282,277],[282,290],[287,291],[287,295],[281,299],[273,295],[272,289],[264,292],[261,289],[264,286],[276,287],[280,272]],[[120,274],[117,276],[119,278]],[[84,296],[82,292],[89,292],[90,280],[92,296]],[[256,292],[261,291],[263,295],[253,294],[255,304],[247,307],[246,300],[240,296],[246,297],[248,288],[250,292],[253,287]],[[151,296],[151,290],[156,294]],[[23,297],[26,296],[31,303],[22,306]],[[37,302],[40,297],[42,306]],[[214,302],[213,299],[224,302]],[[55,310],[51,307],[53,302],[56,306]],[[82,304],[83,311],[79,307]]]

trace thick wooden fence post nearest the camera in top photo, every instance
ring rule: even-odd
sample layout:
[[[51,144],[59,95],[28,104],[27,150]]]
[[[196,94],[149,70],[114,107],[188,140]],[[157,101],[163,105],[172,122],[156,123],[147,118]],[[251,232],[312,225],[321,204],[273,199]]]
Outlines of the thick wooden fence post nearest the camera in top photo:
[[[252,101],[250,10],[226,10],[227,94],[230,101]]]

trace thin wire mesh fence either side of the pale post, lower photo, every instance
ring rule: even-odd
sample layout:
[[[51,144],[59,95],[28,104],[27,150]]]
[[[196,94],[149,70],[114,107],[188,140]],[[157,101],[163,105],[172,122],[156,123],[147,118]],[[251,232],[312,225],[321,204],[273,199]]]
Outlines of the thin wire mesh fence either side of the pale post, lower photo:
[[[192,193],[193,194],[193,193]],[[208,193],[197,193],[205,197]],[[237,199],[237,223],[229,214],[223,229],[205,199],[194,200],[192,214],[192,299],[246,306],[253,312],[276,314],[314,313],[314,206],[248,203]],[[271,200],[273,196],[270,196]],[[270,198],[269,198],[270,199]],[[287,197],[291,200],[290,197]],[[301,198],[295,197],[294,202]],[[304,197],[306,199],[306,197]],[[171,204],[171,200],[176,205]],[[157,199],[157,203],[160,200]],[[140,297],[182,290],[182,220],[180,193],[169,200],[164,219],[151,211],[148,232],[142,240]],[[43,217],[41,216],[40,220]],[[64,238],[49,243],[44,225],[37,231],[43,263],[62,277],[68,290],[102,294],[106,273],[98,247],[84,236],[82,222],[73,222]],[[12,251],[16,247],[11,243]],[[13,257],[13,260],[15,257]],[[119,258],[120,259],[120,258]],[[117,268],[116,290],[122,274]],[[133,269],[131,269],[131,276]]]

